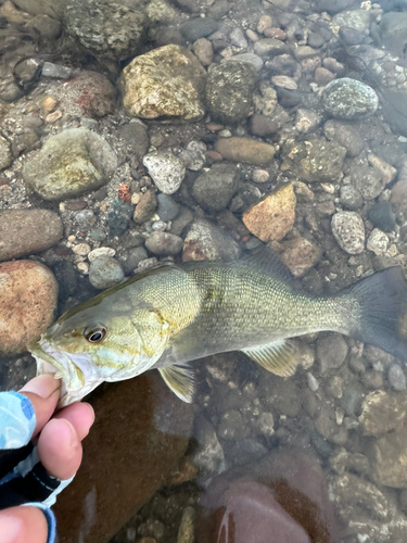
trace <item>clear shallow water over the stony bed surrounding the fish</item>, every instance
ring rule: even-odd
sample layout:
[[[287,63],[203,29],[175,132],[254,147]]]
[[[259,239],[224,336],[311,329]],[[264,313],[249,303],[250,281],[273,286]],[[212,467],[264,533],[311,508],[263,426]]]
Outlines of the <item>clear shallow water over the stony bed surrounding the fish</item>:
[[[24,345],[55,305],[157,261],[269,243],[315,293],[405,267],[405,9],[0,1],[0,261],[59,283],[28,313],[15,285],[0,294],[1,389],[35,375]],[[328,332],[298,358],[288,379],[241,353],[196,361],[192,405],[157,372],[98,389],[61,543],[406,541],[404,364]]]

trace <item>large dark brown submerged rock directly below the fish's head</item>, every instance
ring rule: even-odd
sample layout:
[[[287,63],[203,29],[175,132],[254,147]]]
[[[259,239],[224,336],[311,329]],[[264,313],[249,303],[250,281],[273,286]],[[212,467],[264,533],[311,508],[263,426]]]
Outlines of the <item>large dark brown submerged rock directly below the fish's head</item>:
[[[54,507],[60,543],[80,541],[89,518],[84,503],[93,507],[96,500],[98,507],[92,514],[94,522],[87,528],[87,543],[110,541],[179,469],[191,433],[191,404],[180,402],[157,371],[104,386],[90,402],[97,416],[93,432],[84,442],[84,459],[76,478]],[[114,477],[106,479],[106,469]]]

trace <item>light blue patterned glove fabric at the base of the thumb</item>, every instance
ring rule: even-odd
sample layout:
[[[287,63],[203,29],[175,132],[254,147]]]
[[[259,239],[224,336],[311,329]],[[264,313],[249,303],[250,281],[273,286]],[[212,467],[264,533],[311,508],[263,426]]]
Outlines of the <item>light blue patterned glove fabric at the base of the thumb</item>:
[[[18,392],[0,392],[0,449],[27,445],[36,422],[36,413],[27,396]]]

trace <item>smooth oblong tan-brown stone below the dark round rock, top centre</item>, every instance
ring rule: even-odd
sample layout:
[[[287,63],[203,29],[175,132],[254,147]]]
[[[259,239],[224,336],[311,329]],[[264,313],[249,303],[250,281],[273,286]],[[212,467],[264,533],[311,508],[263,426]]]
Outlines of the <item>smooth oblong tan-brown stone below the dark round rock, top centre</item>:
[[[249,162],[263,166],[271,162],[276,149],[268,143],[249,138],[220,138],[216,142],[215,151],[224,159],[232,162]]]

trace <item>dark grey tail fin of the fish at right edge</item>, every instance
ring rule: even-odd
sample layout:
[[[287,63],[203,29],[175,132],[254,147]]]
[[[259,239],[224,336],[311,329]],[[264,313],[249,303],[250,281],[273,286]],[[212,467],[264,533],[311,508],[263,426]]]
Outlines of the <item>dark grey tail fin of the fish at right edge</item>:
[[[356,299],[360,308],[349,336],[407,362],[407,282],[400,267],[378,272],[340,295]]]

